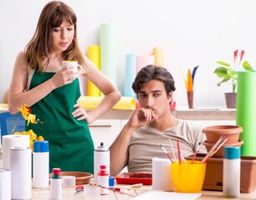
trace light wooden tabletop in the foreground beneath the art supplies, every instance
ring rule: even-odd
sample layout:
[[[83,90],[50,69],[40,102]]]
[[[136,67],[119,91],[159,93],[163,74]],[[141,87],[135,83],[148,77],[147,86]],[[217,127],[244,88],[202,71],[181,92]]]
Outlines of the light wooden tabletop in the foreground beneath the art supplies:
[[[118,185],[118,187],[125,187],[127,185]],[[136,190],[129,190],[127,193],[134,195],[140,195],[142,193],[146,193],[147,191],[155,191],[151,189],[151,186],[143,186],[142,188],[136,189]],[[84,199],[84,193],[78,193],[74,195],[75,188],[63,188],[62,193],[62,200],[79,200]],[[172,193],[172,192],[170,192]],[[102,195],[100,197],[100,200],[128,200],[132,199],[133,197],[116,193],[114,194],[113,191],[110,191],[109,195]],[[36,200],[43,200],[43,199],[49,199],[49,189],[35,189],[33,188],[33,198]],[[223,199],[227,200],[227,198],[223,198],[223,192],[217,192],[217,191],[202,191],[202,196],[197,199]],[[240,199],[256,199],[256,190],[253,193],[240,193]]]

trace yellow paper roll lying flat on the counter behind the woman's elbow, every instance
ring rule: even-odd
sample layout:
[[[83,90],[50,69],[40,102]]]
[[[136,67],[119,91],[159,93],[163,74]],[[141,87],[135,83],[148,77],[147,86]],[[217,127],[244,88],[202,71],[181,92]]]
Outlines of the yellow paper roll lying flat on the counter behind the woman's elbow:
[[[79,103],[84,109],[94,109],[98,107],[103,97],[79,97]],[[136,99],[134,97],[121,97],[120,101],[112,108],[114,110],[135,110]]]

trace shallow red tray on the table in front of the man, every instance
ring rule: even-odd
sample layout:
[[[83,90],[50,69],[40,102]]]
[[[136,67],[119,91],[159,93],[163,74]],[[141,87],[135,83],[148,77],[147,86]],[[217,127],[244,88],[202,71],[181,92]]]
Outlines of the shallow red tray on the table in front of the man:
[[[142,183],[143,185],[152,184],[151,173],[120,173],[115,176],[116,183],[118,184],[136,184]]]

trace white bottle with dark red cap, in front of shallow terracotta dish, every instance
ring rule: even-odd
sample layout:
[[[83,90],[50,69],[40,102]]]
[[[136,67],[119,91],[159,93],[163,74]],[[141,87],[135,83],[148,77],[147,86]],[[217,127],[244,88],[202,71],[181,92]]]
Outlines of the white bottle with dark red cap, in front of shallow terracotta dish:
[[[50,199],[59,200],[62,198],[62,178],[60,177],[60,168],[53,168],[50,178]]]

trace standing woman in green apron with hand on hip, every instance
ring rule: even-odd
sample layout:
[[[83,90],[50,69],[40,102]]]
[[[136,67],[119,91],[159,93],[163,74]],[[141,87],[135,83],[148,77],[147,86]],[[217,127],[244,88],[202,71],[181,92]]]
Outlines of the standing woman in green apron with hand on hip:
[[[29,124],[49,141],[50,171],[93,173],[94,144],[87,124],[120,100],[120,92],[79,49],[76,15],[64,2],[45,5],[33,38],[19,52],[13,68],[8,108],[12,113],[27,104],[43,124]],[[105,95],[90,113],[79,106],[79,80],[61,61],[78,61],[83,74]]]

